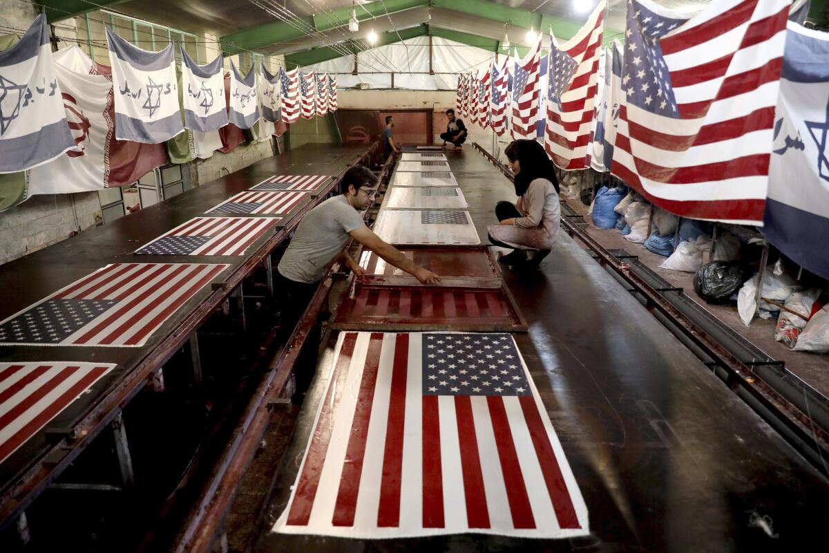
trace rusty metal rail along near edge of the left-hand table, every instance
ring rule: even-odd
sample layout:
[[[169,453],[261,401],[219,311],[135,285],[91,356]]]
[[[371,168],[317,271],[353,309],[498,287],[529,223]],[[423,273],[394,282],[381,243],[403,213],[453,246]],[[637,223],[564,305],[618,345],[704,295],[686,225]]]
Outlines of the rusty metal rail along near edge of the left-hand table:
[[[376,148],[376,143],[366,148],[366,152],[356,158],[356,161],[365,159]],[[348,167],[348,166],[347,166]],[[347,168],[346,167],[346,168]],[[319,193],[325,196],[331,192],[335,184],[342,178],[343,173],[337,177]],[[124,407],[133,399],[143,386],[148,384],[153,374],[159,371],[177,350],[182,347],[193,332],[196,332],[206,318],[225,301],[230,293],[239,286],[262,262],[273,252],[289,233],[299,224],[302,217],[318,203],[308,202],[295,216],[288,221],[288,224],[272,235],[264,245],[256,250],[244,264],[241,264],[233,274],[221,282],[215,284],[216,288],[187,318],[172,329],[158,346],[148,352],[147,356],[139,361],[138,365],[129,372],[124,380],[109,390],[90,412],[77,424],[73,425],[70,432],[62,439],[56,440],[41,457],[17,478],[0,496],[0,530],[20,517],[22,512],[57,478],[61,472],[72,463],[75,458],[102,432],[106,426],[115,420]]]

